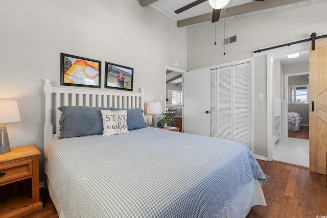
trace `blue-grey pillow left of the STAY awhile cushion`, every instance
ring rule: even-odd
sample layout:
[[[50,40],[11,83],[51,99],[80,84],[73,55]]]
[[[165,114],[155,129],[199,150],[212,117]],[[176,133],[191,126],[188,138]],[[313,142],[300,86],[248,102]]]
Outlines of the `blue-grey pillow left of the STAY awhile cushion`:
[[[62,106],[59,119],[59,139],[103,134],[101,110],[106,107]]]

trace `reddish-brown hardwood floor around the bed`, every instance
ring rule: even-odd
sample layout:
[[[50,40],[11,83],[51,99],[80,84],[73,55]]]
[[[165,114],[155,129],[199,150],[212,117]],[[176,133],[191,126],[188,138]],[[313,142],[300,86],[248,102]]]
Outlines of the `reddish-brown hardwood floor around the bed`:
[[[247,218],[327,217],[326,176],[308,168],[276,161],[258,160],[270,178],[263,186],[267,206],[252,207]],[[57,218],[48,190],[40,190],[43,209],[26,217]]]

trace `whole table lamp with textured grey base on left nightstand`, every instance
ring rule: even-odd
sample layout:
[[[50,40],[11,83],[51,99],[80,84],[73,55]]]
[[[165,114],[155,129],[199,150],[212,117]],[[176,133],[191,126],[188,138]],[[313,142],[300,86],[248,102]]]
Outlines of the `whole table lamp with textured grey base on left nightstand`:
[[[10,143],[5,123],[20,121],[17,101],[0,100],[0,154],[10,152]]]

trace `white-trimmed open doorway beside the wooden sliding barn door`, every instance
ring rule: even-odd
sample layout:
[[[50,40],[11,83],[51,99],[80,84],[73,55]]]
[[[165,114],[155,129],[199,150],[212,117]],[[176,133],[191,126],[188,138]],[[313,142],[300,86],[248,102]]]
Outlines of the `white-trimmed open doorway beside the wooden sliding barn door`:
[[[287,59],[288,54],[299,53],[299,59]],[[275,61],[281,61],[281,75],[279,76],[279,95],[278,91],[276,91],[276,83],[275,75],[274,75],[274,67]],[[285,62],[284,62],[285,61]],[[305,69],[301,69],[300,66],[305,65]],[[291,68],[293,67],[293,69]],[[287,88],[287,77],[285,75],[291,76],[295,72],[309,71],[309,43],[300,43],[297,44],[293,49],[289,49],[288,47],[281,47],[277,52],[267,54],[267,154],[268,160],[278,160],[282,162],[287,162],[294,165],[301,165],[309,167],[309,140],[303,143],[303,147],[305,147],[306,152],[302,152],[302,156],[305,159],[304,161],[297,161],[299,158],[293,158],[295,156],[294,149],[292,146],[296,146],[297,144],[302,144],[303,139],[295,139],[288,137],[288,88]],[[294,75],[292,75],[294,76]],[[278,86],[277,86],[278,90]],[[277,93],[277,95],[276,95]],[[282,111],[281,111],[281,137],[278,140],[274,140],[273,132],[276,128],[274,119],[275,108],[272,107],[275,99],[280,98],[282,101]],[[276,142],[276,143],[275,143]],[[283,147],[285,149],[283,150]],[[282,149],[281,149],[282,148]],[[279,151],[281,150],[281,151]],[[293,153],[293,154],[292,154]],[[283,155],[281,158],[280,156]]]

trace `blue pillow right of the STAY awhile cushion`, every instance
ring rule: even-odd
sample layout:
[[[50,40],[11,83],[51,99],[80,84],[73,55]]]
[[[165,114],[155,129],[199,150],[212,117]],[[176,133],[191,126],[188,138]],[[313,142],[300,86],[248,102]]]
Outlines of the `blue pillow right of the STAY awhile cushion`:
[[[127,127],[128,130],[146,128],[143,110],[141,108],[111,108],[111,110],[127,110]]]

